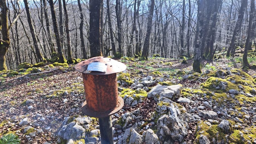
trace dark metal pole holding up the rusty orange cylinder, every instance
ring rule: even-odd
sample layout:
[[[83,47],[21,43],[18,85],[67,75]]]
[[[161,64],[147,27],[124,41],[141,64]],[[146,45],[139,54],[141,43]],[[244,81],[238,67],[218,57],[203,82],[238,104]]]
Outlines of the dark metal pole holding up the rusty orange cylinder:
[[[102,144],[113,144],[113,130],[111,116],[99,118],[100,138]]]

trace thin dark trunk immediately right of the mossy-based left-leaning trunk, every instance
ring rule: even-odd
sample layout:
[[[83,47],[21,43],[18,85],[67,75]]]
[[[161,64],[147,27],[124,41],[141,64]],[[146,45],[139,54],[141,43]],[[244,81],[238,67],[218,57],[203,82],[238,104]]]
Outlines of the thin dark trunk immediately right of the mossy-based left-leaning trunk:
[[[67,54],[68,54],[68,62],[73,63],[72,53],[71,53],[71,45],[70,45],[70,36],[69,36],[69,16],[67,13],[66,0],[63,0],[63,9],[65,14],[65,30],[67,34]]]

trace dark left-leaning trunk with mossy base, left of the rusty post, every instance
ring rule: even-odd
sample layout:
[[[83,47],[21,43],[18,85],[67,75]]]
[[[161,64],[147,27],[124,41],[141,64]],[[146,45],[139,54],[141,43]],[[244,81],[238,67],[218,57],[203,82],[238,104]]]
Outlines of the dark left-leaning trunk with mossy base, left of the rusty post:
[[[62,52],[62,47],[61,47],[61,41],[60,41],[60,37],[59,37],[59,27],[57,24],[57,20],[56,20],[56,13],[54,10],[54,4],[53,4],[53,0],[49,0],[49,4],[51,7],[51,19],[52,19],[52,25],[53,25],[53,30],[54,30],[54,34],[56,37],[56,43],[57,43],[57,52],[58,52],[58,62],[60,63],[64,63],[65,62],[65,58]]]

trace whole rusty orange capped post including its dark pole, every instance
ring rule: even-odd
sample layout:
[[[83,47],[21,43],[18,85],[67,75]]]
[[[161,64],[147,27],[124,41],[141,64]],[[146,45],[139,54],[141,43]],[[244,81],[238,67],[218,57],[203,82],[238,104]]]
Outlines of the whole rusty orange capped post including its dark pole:
[[[106,57],[93,57],[79,62],[75,69],[82,73],[86,101],[82,112],[99,118],[102,144],[113,144],[111,115],[123,107],[118,96],[116,73],[126,69],[125,64]]]

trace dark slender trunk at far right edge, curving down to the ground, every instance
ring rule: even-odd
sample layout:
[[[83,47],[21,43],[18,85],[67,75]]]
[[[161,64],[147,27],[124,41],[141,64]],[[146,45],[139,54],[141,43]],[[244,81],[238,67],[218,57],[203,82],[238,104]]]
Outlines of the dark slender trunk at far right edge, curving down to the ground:
[[[254,11],[255,11],[255,0],[251,0],[251,11],[250,11],[248,32],[247,32],[247,38],[245,42],[245,48],[243,51],[243,68],[246,68],[246,67],[250,68],[250,64],[247,60],[247,53],[248,53],[249,42],[251,41],[251,29],[252,29]]]

